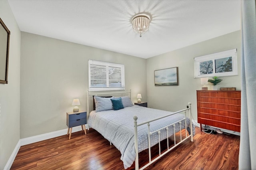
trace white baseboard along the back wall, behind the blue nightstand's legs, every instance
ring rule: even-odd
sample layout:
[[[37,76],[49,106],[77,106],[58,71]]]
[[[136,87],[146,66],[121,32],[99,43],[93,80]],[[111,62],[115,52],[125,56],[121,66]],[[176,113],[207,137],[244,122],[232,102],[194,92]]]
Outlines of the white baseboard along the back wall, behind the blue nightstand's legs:
[[[73,132],[78,132],[78,131],[81,131],[81,130],[82,130],[81,126],[73,127],[72,128],[72,133]],[[68,128],[63,129],[63,130],[58,130],[58,131],[55,131],[55,132],[50,132],[50,133],[40,134],[40,135],[37,135],[37,136],[23,138],[23,139],[20,139],[21,146],[26,145],[26,144],[31,144],[31,143],[34,143],[34,142],[40,142],[42,140],[46,140],[46,139],[50,139],[50,138],[55,138],[55,137],[62,136],[62,135],[67,134],[67,133],[68,133]]]

